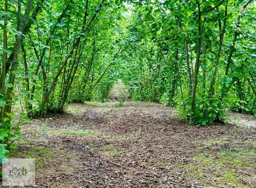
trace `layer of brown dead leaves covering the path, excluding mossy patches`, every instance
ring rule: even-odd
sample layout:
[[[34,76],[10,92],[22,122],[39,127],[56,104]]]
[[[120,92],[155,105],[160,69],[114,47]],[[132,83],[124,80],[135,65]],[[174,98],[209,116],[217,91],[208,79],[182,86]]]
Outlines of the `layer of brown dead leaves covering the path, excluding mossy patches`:
[[[99,133],[97,136],[26,132],[27,128],[39,126],[36,121],[23,128],[25,136],[34,140],[30,147],[42,145],[54,155],[50,159],[41,156],[43,167],[36,173],[37,187],[203,186],[191,182],[187,171],[175,166],[193,162],[191,157],[195,154],[213,149],[204,147],[205,140],[255,140],[255,129],[231,124],[198,128],[179,120],[175,109],[160,104],[128,102],[122,108],[76,106],[82,109],[80,114],[52,115],[47,123],[54,129],[90,128]],[[104,145],[124,152],[100,154]]]

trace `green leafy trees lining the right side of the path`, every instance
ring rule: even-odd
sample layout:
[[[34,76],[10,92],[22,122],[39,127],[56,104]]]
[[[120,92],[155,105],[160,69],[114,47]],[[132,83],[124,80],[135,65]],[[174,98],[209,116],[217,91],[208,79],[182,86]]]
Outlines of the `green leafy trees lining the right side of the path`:
[[[124,82],[136,100],[177,106],[189,123],[256,114],[253,1],[136,3],[123,53]]]

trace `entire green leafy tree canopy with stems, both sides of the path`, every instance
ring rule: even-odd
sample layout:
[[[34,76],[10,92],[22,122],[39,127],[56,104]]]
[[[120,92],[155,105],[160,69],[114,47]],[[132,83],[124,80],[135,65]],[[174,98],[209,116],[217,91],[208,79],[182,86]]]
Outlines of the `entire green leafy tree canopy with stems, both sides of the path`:
[[[107,101],[118,79],[134,100],[179,109],[191,124],[256,114],[252,0],[3,0],[1,148],[19,125],[70,102]],[[3,36],[3,37],[2,37]]]

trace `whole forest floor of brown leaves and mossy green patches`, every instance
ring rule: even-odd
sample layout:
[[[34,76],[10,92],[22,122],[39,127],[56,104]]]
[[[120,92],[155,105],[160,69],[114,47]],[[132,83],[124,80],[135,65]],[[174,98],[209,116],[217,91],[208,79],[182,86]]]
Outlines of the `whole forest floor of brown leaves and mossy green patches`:
[[[116,104],[34,119],[10,157],[36,159],[37,187],[255,187],[253,116],[198,128],[161,104]]]

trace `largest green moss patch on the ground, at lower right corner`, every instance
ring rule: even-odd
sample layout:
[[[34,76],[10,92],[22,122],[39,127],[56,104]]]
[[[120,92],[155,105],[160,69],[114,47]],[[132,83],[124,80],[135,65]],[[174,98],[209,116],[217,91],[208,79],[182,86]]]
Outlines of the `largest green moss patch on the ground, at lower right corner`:
[[[193,157],[195,162],[177,164],[175,168],[186,170],[187,178],[193,182],[199,181],[202,184],[217,187],[246,187],[240,179],[246,181],[246,179],[250,180],[253,176],[253,169],[256,166],[256,150],[238,147],[238,145],[244,144],[254,147],[255,144],[253,141],[250,143],[243,142],[232,142],[229,145],[232,149],[210,150],[197,154]],[[204,143],[208,147],[215,148],[215,146],[227,144],[228,141],[211,139]],[[211,177],[211,180],[205,182],[205,176]]]

